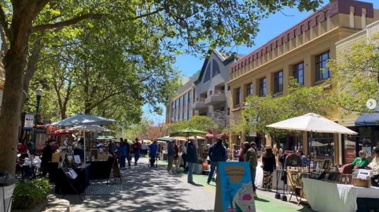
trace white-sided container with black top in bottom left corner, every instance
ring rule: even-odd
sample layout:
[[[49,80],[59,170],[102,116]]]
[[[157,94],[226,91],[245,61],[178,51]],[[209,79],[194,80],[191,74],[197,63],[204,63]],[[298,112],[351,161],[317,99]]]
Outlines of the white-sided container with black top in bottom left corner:
[[[7,171],[0,171],[0,211],[10,212],[13,190],[17,179]]]

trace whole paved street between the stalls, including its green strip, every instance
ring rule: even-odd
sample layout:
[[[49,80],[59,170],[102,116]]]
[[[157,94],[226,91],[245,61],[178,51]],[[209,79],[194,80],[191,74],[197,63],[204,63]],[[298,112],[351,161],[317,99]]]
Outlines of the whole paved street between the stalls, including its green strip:
[[[198,184],[187,183],[185,174],[169,174],[165,163],[159,161],[158,168],[147,167],[147,158],[139,165],[122,169],[122,190],[110,195],[86,195],[80,201],[76,195],[67,195],[71,211],[86,212],[211,212],[214,207],[215,182],[206,184],[205,175],[194,175]],[[182,169],[182,168],[180,168]],[[117,179],[119,183],[119,179]],[[94,182],[91,182],[93,184]],[[114,184],[113,179],[110,184]],[[275,193],[258,190],[256,207],[258,212],[311,212],[308,206],[274,199]],[[60,198],[62,195],[57,195]],[[289,196],[288,196],[289,197]],[[294,199],[294,198],[293,198]]]

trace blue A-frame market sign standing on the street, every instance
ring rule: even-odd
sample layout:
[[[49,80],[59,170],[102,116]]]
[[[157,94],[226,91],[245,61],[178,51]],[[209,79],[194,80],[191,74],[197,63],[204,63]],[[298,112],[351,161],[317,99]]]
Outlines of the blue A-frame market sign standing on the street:
[[[219,162],[215,212],[255,212],[248,162]]]

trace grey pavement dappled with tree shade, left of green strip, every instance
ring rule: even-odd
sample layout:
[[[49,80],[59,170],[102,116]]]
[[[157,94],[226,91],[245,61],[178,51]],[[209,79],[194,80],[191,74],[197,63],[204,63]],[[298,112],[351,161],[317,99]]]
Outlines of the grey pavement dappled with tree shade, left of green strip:
[[[71,211],[128,211],[128,212],[205,212],[199,206],[191,207],[189,198],[195,198],[191,184],[180,175],[171,175],[161,167],[147,167],[140,163],[131,169],[121,169],[122,190],[110,195],[87,195],[82,202],[77,195],[67,195]],[[113,176],[110,177],[113,179]],[[96,183],[96,182],[90,182]],[[113,180],[110,183],[114,183]],[[119,184],[120,181],[117,181]],[[186,185],[188,184],[188,185]],[[194,184],[203,186],[201,184]],[[192,192],[192,193],[191,193]],[[62,195],[53,196],[61,198]],[[201,199],[200,199],[201,200]],[[194,209],[197,208],[197,209]],[[209,207],[208,207],[209,209]]]

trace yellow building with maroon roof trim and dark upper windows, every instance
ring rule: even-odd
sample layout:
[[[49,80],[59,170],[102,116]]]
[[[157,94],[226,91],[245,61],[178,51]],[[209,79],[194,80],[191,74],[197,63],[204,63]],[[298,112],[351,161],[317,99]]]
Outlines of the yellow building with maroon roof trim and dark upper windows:
[[[321,84],[330,77],[328,71],[322,72],[321,69],[326,68],[328,59],[336,58],[336,42],[365,29],[378,18],[379,10],[375,10],[372,3],[338,0],[327,4],[241,58],[229,67],[231,116],[241,114],[247,95],[286,95],[290,76],[294,76],[304,86]],[[338,113],[332,119],[338,121]],[[231,120],[231,124],[232,122]],[[258,142],[258,150],[265,144],[271,144],[270,139],[264,135],[246,137],[245,132],[231,135],[231,143],[237,145],[252,139]],[[307,142],[304,140],[287,137],[283,146],[289,150],[301,146],[307,152]],[[338,136],[317,134],[314,135],[314,140],[333,143],[335,147],[330,151],[329,145],[329,151],[320,152],[320,148],[317,148],[318,156],[334,158],[337,163],[342,162]]]

